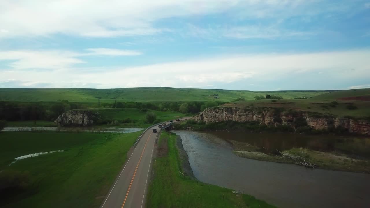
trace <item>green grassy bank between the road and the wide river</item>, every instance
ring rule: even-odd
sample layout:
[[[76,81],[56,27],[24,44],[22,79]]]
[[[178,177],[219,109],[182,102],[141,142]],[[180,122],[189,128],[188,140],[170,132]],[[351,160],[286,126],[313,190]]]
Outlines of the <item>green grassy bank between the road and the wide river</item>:
[[[175,138],[166,132],[161,135],[160,141],[167,142],[168,152],[155,158],[147,207],[275,207],[246,194],[233,194],[231,189],[179,176],[181,165]]]

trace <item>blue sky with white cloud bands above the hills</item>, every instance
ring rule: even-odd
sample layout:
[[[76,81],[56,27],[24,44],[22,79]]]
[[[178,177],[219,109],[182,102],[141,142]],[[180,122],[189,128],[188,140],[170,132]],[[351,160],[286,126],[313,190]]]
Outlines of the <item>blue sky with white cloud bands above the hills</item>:
[[[370,88],[370,0],[0,0],[0,87]]]

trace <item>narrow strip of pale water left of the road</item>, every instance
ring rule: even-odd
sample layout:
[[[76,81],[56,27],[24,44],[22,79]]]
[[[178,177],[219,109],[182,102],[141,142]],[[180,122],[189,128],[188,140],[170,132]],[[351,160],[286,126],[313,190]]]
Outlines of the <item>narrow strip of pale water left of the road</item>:
[[[2,131],[57,131],[58,127],[5,127]],[[118,128],[118,127],[63,127],[59,131],[104,131],[117,133],[132,133],[144,128]]]

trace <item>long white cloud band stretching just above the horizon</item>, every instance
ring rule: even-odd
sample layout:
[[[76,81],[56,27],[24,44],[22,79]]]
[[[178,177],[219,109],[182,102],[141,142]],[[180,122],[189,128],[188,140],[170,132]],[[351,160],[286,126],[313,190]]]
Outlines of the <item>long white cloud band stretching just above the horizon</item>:
[[[0,56],[1,57],[1,56]],[[324,72],[331,81],[370,79],[370,50],[303,54],[239,54],[137,67],[61,68],[54,71],[0,72],[0,82],[17,78],[28,83],[51,83],[53,87],[84,87],[99,83],[100,88],[186,87],[219,85],[246,80],[272,81],[287,76],[304,80],[306,73]],[[354,69],[354,70],[351,70]],[[22,77],[22,78],[20,78]],[[96,85],[96,84],[95,84]],[[50,86],[49,86],[50,87]]]

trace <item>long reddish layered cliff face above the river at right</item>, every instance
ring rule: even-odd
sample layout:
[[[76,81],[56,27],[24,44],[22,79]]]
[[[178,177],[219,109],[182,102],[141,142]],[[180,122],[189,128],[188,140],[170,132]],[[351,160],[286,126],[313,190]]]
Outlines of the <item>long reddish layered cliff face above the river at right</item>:
[[[370,135],[370,123],[350,118],[320,117],[307,112],[279,112],[271,108],[259,110],[256,108],[219,107],[207,108],[194,117],[195,121],[205,123],[220,121],[259,121],[265,125],[289,125],[304,123],[314,130],[327,130],[328,128],[342,128],[354,134]],[[307,122],[307,124],[306,124]]]

